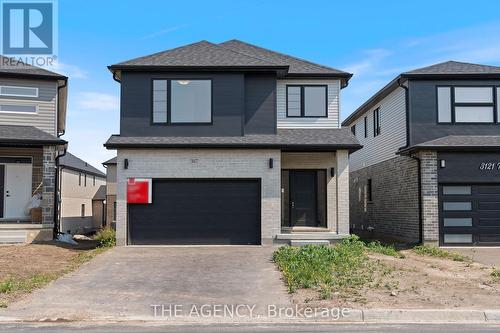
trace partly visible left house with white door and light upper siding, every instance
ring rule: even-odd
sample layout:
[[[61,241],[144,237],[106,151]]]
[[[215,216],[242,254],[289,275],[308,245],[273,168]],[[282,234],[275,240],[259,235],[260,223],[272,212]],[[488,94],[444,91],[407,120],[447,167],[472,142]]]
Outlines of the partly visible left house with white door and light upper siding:
[[[0,243],[50,240],[67,77],[0,57]],[[34,195],[41,208],[30,210]]]

